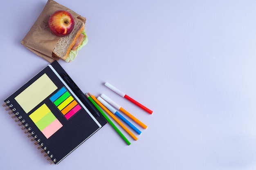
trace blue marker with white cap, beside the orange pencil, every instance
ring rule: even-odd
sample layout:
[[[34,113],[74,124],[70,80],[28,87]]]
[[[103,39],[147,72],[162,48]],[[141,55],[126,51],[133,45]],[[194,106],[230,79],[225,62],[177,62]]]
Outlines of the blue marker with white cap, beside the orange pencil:
[[[106,106],[106,108],[108,108],[108,110],[110,110],[113,114],[117,115],[117,117],[119,117],[122,121],[124,121],[128,126],[130,126],[130,128],[132,128],[135,132],[137,132],[139,135],[141,134],[141,131],[136,128],[133,124],[130,123],[130,121],[128,121],[125,117],[123,117],[120,113],[117,112],[117,110],[115,110],[115,108],[113,108],[112,106],[110,106],[110,104],[108,104],[104,99],[102,99],[101,97],[97,97],[97,99],[104,105]]]

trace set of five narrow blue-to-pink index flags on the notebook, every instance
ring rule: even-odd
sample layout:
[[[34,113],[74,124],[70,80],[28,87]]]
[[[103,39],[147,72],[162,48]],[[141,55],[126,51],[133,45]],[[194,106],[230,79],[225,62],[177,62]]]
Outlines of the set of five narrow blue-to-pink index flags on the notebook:
[[[66,119],[70,119],[81,109],[81,106],[76,102],[74,97],[70,95],[65,87],[61,88],[57,93],[50,97],[50,100],[57,106],[58,110],[61,111]]]

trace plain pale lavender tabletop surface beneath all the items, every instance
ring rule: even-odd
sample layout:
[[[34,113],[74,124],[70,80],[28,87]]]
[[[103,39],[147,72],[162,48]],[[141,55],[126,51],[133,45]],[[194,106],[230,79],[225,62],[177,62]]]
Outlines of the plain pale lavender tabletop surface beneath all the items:
[[[0,2],[2,101],[49,64],[20,44],[46,2]],[[74,62],[61,66],[83,92],[108,95],[148,128],[139,128],[137,141],[124,132],[127,146],[107,124],[49,165],[2,108],[4,170],[256,169],[255,1],[57,2],[87,18],[89,39]]]

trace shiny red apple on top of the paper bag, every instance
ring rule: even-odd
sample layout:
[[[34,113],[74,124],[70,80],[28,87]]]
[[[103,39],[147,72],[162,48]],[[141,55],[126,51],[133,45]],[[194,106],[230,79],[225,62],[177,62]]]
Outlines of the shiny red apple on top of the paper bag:
[[[48,21],[49,28],[58,37],[69,35],[74,28],[74,18],[65,10],[54,12]]]

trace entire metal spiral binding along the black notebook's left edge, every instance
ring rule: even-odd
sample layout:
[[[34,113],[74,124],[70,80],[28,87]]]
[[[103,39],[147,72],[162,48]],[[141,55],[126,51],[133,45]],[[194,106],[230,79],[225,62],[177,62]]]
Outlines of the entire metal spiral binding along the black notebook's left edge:
[[[14,111],[16,111],[16,108],[12,108],[13,105],[12,105],[12,104],[9,104],[9,103],[10,103],[10,101],[8,100],[8,101],[5,102],[2,106],[3,106],[3,107],[6,107],[5,110],[10,110],[10,111],[8,112],[8,114],[11,115],[11,114],[14,113]],[[8,105],[8,104],[9,104],[9,105]],[[17,115],[19,115],[19,112],[14,113],[14,115],[12,115],[11,118],[15,118],[15,117],[17,117]],[[20,121],[20,123],[18,124],[18,126],[21,126],[21,125],[23,125],[23,124],[25,123],[25,119],[22,119],[22,120],[21,120],[21,119],[22,119],[22,116],[19,116],[19,117],[17,117],[17,118],[14,120],[15,122]],[[26,129],[28,126],[29,126],[29,124],[25,124],[24,126],[22,126],[21,130]],[[32,130],[31,127],[27,128],[27,129],[24,131],[24,133],[27,133],[27,132],[29,132],[30,130]],[[27,137],[31,137],[31,136],[34,135],[34,134],[35,134],[35,132],[32,131],[32,132],[29,133],[29,135],[27,135]],[[30,139],[30,140],[31,140],[31,141],[34,141],[37,137],[38,137],[38,136],[35,135],[35,136],[34,136],[32,139]],[[34,143],[34,145],[39,144],[40,141],[41,141],[41,139],[37,139],[36,142]],[[43,146],[44,146],[44,144],[41,143],[41,144],[38,146],[37,149],[39,150],[39,149],[42,148]],[[46,156],[49,155],[49,153],[50,153],[49,150],[48,150],[47,152],[46,152],[46,150],[47,150],[47,147],[44,147],[43,150],[41,150],[41,153],[45,152],[44,157],[46,157]],[[47,158],[47,161],[51,160],[53,157],[54,157],[53,155],[50,155],[49,158]],[[56,159],[53,159],[53,161],[52,161],[50,164],[52,164],[52,163],[54,163],[54,162],[56,162],[56,161],[57,161]]]

